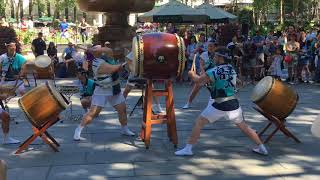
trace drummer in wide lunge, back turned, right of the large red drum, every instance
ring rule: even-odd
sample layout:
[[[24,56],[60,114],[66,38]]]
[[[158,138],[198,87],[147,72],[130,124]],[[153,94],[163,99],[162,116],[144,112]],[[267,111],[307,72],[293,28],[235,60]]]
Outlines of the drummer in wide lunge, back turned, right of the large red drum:
[[[228,50],[221,47],[215,51],[216,67],[207,70],[201,76],[194,71],[189,71],[190,78],[196,83],[211,83],[214,103],[208,104],[207,108],[202,111],[193,127],[187,145],[175,152],[177,156],[193,155],[192,147],[197,143],[204,125],[214,123],[223,117],[234,122],[244,134],[257,144],[257,147],[252,149],[253,152],[268,155],[268,151],[257,133],[244,121],[239,101],[234,96],[237,75],[232,65],[226,63],[227,59],[229,59]]]

